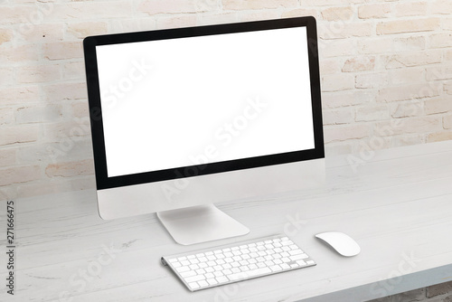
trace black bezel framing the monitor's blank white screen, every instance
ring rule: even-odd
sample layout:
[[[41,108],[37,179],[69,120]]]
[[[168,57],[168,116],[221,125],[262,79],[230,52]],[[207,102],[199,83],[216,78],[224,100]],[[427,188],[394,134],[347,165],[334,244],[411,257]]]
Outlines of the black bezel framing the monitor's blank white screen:
[[[282,29],[306,26],[311,80],[311,102],[313,110],[315,148],[277,155],[242,158],[208,165],[191,165],[150,171],[134,175],[108,177],[105,140],[103,134],[102,114],[99,93],[99,73],[97,69],[96,46],[125,42],[144,42],[165,39],[195,37],[222,33],[244,33],[260,30]],[[318,47],[315,18],[312,16],[244,22],[236,24],[216,24],[207,26],[185,27],[166,30],[155,30],[137,33],[116,33],[89,36],[83,40],[85,70],[88,87],[89,117],[94,154],[94,166],[98,190],[167,181],[181,177],[210,175],[241,169],[256,168],[267,165],[280,165],[304,160],[324,158],[324,136],[322,121],[322,106],[320,95],[320,73],[318,63]]]

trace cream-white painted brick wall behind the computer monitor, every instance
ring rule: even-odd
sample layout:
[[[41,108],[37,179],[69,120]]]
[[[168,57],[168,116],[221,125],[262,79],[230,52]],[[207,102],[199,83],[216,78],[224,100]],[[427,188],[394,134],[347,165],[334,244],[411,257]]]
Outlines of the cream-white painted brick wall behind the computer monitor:
[[[82,39],[314,15],[327,155],[452,139],[452,2],[2,1],[0,190],[94,186]],[[381,134],[381,128],[391,129]]]

